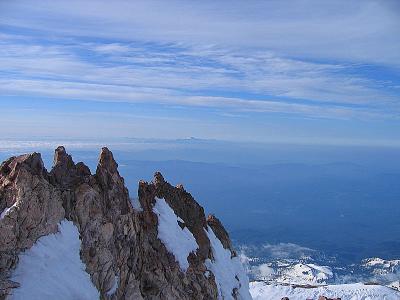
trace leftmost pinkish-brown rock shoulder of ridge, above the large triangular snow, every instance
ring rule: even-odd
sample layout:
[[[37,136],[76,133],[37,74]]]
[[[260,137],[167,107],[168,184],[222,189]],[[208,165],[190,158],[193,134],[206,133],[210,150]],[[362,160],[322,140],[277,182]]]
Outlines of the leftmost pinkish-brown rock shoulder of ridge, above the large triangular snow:
[[[49,182],[40,154],[11,157],[0,166],[0,297],[16,284],[8,281],[18,254],[58,229],[64,218],[60,190]]]

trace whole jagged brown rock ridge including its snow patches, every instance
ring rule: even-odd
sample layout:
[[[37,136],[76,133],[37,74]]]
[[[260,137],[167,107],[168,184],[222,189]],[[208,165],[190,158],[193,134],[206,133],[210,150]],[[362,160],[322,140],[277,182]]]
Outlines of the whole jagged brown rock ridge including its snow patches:
[[[158,172],[131,199],[107,148],[4,161],[0,213],[0,299],[251,299],[221,222]]]

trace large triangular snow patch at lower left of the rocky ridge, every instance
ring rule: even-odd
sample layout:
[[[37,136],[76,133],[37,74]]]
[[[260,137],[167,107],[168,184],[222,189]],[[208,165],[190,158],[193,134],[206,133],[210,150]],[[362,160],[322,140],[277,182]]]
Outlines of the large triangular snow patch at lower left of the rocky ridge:
[[[99,299],[79,256],[78,229],[66,220],[58,228],[58,233],[41,237],[19,255],[11,280],[21,286],[12,291],[9,299]]]

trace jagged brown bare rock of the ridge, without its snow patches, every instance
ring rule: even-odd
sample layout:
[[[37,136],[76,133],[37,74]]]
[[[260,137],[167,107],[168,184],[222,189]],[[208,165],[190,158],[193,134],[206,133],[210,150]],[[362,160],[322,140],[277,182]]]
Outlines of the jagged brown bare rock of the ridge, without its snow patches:
[[[11,157],[0,167],[0,299],[18,286],[7,278],[18,254],[41,236],[57,231],[64,218],[77,226],[81,259],[104,299],[216,299],[213,274],[206,276],[205,260],[212,258],[205,230],[209,225],[223,246],[234,251],[229,236],[215,217],[184,190],[173,187],[156,173],[153,182],[139,183],[135,210],[113,154],[103,148],[96,173],[75,164],[64,147],[55,150],[54,166],[44,168],[40,154]],[[173,254],[157,238],[158,219],[153,212],[164,198],[195,237],[199,249],[189,255],[182,272]],[[107,292],[115,281],[113,295]]]

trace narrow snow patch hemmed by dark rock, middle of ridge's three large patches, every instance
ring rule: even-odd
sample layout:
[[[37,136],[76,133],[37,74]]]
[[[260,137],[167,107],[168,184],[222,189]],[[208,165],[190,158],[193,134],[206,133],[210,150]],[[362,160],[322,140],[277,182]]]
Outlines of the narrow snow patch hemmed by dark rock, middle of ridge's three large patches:
[[[199,245],[193,234],[187,227],[181,228],[178,221],[181,220],[163,198],[156,198],[153,207],[158,217],[158,235],[169,252],[175,256],[182,271],[189,268],[188,256],[195,252]]]

